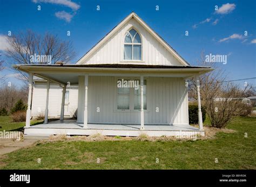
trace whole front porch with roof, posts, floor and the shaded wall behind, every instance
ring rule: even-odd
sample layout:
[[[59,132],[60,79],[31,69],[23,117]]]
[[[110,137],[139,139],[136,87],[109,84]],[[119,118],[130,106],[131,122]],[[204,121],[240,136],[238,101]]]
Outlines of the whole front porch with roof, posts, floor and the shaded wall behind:
[[[16,68],[29,73],[25,135],[204,135],[199,75],[211,71],[210,68],[133,64],[20,65]],[[34,75],[46,80],[45,121],[42,125],[30,126]],[[199,129],[188,123],[186,79],[190,77],[197,77]],[[118,91],[118,78],[139,80],[138,91],[134,88],[127,93],[124,88]],[[51,82],[60,85],[62,93],[57,97],[61,97],[62,102],[60,120],[49,122]],[[64,120],[65,92],[70,85],[78,85],[78,96],[72,100],[78,104],[77,120]]]

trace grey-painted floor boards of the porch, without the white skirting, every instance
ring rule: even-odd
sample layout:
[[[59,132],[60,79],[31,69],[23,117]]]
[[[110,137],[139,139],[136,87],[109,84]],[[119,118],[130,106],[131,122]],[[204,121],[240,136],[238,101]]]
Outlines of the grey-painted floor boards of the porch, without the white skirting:
[[[87,124],[90,130],[140,130],[136,124]],[[75,119],[51,121],[48,124],[33,125],[30,128],[65,128],[83,129],[83,124],[77,124]],[[144,125],[146,131],[199,131],[191,125]]]

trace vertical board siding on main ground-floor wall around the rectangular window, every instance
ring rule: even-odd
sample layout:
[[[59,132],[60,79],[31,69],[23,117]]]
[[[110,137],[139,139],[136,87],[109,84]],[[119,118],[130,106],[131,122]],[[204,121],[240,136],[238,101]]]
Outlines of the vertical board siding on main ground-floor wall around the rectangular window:
[[[89,77],[89,123],[140,124],[140,112],[116,111],[116,77]],[[100,112],[97,112],[97,107]],[[130,106],[131,107],[131,106]],[[156,112],[159,107],[159,112]],[[183,78],[147,78],[145,124],[187,124],[187,93]]]

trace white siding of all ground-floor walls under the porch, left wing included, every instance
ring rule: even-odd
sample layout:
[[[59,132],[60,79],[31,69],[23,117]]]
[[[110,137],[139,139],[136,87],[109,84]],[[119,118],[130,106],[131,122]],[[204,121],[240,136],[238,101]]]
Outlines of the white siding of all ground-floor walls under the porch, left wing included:
[[[145,124],[188,124],[188,102],[183,78],[145,77],[147,80],[147,110],[144,111]],[[43,85],[44,84],[44,85]],[[116,110],[117,77],[89,76],[88,122],[110,124],[140,124],[139,111]],[[46,100],[45,83],[37,83],[33,88],[32,116],[37,108],[44,112]],[[70,90],[70,116],[77,110],[78,87]],[[49,93],[49,117],[58,117],[62,89],[51,85]],[[83,102],[80,102],[83,103]],[[83,106],[81,114],[83,114]],[[159,112],[156,112],[158,107]],[[97,112],[99,109],[99,112]],[[83,118],[80,120],[83,121]]]

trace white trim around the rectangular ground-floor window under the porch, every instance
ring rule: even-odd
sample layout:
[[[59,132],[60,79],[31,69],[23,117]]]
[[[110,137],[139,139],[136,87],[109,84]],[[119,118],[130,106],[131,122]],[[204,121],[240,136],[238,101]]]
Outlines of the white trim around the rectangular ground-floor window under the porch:
[[[116,77],[115,78],[115,84],[116,84],[116,86],[114,87],[114,112],[131,112],[131,113],[140,113],[140,109],[135,109],[134,110],[134,89],[132,88],[130,88],[130,109],[128,110],[128,109],[117,109],[117,81],[119,80],[119,79],[126,79],[126,80],[140,80],[140,78],[139,77]],[[147,82],[147,92],[146,92],[146,97],[147,97],[147,109],[144,109],[144,112],[150,112],[150,110],[149,110],[149,79],[148,78],[145,78],[144,77],[144,80],[146,80],[146,82]],[[140,87],[139,87],[139,90],[140,90]]]

